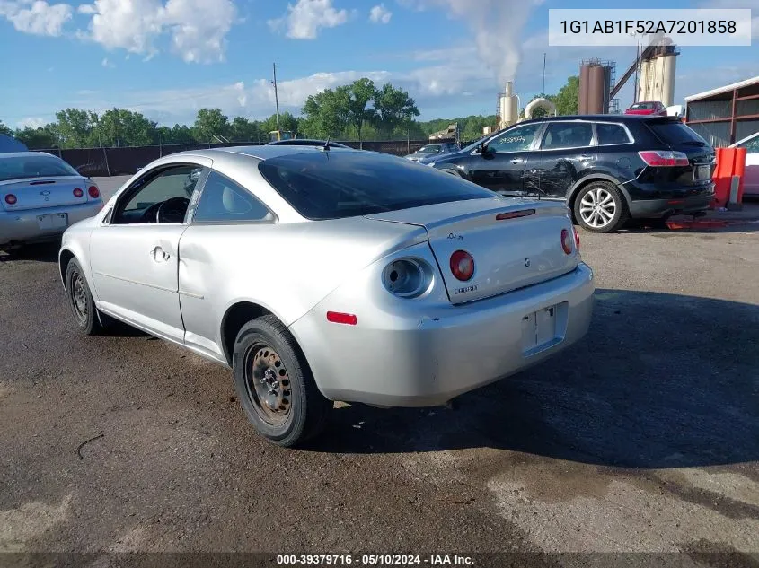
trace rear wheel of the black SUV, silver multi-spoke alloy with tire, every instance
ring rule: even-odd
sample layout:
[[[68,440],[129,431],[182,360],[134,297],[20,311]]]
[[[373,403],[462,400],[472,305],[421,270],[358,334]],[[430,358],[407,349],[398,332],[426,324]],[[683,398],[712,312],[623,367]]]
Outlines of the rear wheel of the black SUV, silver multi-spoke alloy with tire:
[[[587,232],[614,232],[630,218],[622,192],[608,181],[591,181],[581,188],[573,212],[579,226]]]

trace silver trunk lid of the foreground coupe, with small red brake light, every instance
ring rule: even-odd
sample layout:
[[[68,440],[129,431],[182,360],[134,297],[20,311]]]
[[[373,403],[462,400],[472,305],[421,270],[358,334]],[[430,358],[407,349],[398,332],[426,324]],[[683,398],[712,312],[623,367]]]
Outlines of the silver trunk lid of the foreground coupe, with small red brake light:
[[[473,199],[367,215],[377,221],[424,227],[454,304],[481,300],[567,274],[578,265],[567,206],[510,198]],[[569,232],[570,254],[561,245]],[[457,279],[451,256],[464,250],[474,274]]]

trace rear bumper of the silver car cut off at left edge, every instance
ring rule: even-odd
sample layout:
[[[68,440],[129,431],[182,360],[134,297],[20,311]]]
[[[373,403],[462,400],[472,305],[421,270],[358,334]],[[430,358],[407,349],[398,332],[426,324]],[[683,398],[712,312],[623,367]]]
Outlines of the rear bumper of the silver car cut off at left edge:
[[[84,205],[64,205],[12,212],[0,211],[0,245],[55,240],[72,224],[98,214],[102,205],[102,199],[97,199],[88,201]],[[46,229],[40,226],[40,215],[49,214],[66,214],[66,226],[55,229]]]

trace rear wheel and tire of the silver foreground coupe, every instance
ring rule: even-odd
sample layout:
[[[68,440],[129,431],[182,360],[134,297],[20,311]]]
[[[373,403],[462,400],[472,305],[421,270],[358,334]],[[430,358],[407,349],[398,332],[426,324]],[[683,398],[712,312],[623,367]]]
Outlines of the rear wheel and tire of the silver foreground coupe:
[[[332,409],[295,338],[275,316],[246,323],[234,341],[234,388],[256,431],[292,447],[322,432]]]

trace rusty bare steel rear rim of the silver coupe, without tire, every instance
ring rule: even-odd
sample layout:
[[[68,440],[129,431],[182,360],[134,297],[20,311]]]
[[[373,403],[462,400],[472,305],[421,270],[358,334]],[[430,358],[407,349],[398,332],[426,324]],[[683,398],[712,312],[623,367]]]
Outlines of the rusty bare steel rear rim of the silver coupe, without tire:
[[[292,408],[290,376],[269,345],[255,344],[245,354],[245,383],[253,408],[272,426],[285,424]]]

